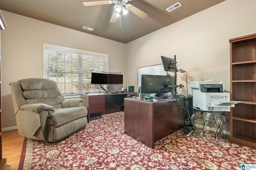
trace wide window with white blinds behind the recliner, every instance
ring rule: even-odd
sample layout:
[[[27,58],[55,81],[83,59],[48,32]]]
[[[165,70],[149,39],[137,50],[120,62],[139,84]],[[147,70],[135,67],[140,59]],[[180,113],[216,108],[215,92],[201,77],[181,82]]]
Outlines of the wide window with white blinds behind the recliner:
[[[108,72],[108,55],[44,44],[44,78],[55,80],[63,94],[96,92],[92,72]]]

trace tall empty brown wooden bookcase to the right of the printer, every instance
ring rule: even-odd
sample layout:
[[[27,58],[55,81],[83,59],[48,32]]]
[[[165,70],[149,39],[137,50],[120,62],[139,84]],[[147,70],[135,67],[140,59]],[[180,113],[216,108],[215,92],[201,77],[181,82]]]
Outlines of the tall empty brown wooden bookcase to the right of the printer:
[[[256,149],[256,33],[229,40],[230,141]]]

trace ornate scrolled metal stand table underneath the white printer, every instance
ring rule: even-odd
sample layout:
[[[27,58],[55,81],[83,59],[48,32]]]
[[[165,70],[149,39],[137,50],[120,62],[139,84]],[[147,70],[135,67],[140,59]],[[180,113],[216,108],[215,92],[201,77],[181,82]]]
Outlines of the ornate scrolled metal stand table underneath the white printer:
[[[191,121],[195,128],[194,137],[200,137],[200,133],[205,133],[204,127],[213,127],[215,131],[215,144],[219,145],[218,135],[223,134],[222,138],[226,139],[223,130],[228,125],[228,117],[224,111],[204,111],[193,107],[193,113],[191,115]],[[199,130],[202,128],[202,130]]]

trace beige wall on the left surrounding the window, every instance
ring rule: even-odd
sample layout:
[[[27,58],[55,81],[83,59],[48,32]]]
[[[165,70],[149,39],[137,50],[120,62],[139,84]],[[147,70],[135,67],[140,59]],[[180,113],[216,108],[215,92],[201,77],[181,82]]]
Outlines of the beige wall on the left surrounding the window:
[[[109,72],[122,72],[126,77],[124,43],[6,11],[2,13],[8,26],[1,30],[3,130],[16,126],[8,84],[22,78],[43,78],[43,43],[108,54]]]

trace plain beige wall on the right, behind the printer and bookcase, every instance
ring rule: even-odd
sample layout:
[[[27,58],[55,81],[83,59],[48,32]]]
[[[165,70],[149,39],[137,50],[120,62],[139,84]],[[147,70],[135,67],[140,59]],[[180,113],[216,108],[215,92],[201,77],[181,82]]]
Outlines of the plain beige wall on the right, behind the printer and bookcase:
[[[184,20],[136,39],[128,50],[128,84],[136,85],[137,68],[161,64],[160,56],[173,58],[177,67],[186,70],[188,81],[221,80],[230,91],[229,39],[256,33],[256,1],[226,0]],[[172,73],[171,73],[172,74]],[[178,84],[185,74],[177,75]],[[186,93],[183,88],[182,93]],[[192,94],[192,89],[188,86]]]

